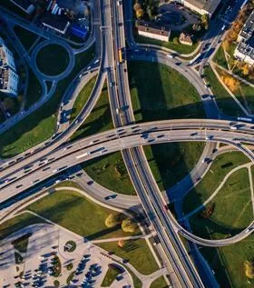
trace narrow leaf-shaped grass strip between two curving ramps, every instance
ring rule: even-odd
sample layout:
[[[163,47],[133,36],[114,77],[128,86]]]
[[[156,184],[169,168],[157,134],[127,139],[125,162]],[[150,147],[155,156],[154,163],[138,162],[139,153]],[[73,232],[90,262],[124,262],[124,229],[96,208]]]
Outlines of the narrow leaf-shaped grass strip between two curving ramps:
[[[76,118],[76,116],[81,112],[84,104],[86,104],[91,92],[93,91],[93,86],[95,84],[97,76],[93,76],[91,80],[87,84],[83,86],[82,91],[80,94],[78,94],[74,104],[73,104],[73,110],[70,117],[70,122],[73,122],[73,120]]]

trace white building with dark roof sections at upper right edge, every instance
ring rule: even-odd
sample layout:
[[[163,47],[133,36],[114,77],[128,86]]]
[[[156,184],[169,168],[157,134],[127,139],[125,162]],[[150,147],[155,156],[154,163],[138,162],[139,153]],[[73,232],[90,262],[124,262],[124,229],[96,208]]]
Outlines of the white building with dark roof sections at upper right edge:
[[[234,56],[249,65],[254,65],[254,11],[243,25],[238,36],[238,42],[239,45]]]

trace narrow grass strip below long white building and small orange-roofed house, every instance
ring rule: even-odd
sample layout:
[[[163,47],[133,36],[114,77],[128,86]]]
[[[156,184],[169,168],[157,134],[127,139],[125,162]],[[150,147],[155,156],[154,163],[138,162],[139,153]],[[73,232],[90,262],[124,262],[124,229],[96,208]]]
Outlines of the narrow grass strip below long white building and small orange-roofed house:
[[[165,41],[161,41],[161,40],[156,40],[156,39],[151,39],[148,37],[144,37],[142,35],[136,35],[135,36],[135,40],[137,43],[140,44],[152,44],[152,45],[159,45],[159,46],[163,46],[166,48],[169,48],[171,50],[174,50],[175,52],[181,53],[181,54],[190,54],[191,52],[193,52],[197,46],[199,45],[198,43],[194,44],[194,45],[183,45],[183,44],[174,44],[172,39],[170,39],[170,41],[165,42]]]

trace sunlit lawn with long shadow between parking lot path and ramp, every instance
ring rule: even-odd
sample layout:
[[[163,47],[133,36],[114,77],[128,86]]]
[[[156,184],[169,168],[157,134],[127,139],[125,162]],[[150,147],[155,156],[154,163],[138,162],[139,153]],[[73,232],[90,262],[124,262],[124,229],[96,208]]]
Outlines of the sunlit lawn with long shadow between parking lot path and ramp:
[[[139,233],[139,230],[134,233],[124,233],[121,225],[107,228],[105,219],[115,212],[93,203],[76,192],[63,190],[49,194],[34,204],[30,204],[27,209],[89,240],[124,237]]]

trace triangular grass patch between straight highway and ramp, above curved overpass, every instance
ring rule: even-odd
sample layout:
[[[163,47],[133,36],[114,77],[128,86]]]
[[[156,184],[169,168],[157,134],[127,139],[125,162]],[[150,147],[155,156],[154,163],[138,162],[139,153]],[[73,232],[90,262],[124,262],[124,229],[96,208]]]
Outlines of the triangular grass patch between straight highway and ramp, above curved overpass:
[[[93,111],[84,121],[84,124],[73,134],[71,139],[77,140],[112,128],[112,114],[108,89],[107,85],[104,84],[102,94],[95,104]]]

